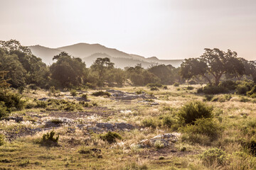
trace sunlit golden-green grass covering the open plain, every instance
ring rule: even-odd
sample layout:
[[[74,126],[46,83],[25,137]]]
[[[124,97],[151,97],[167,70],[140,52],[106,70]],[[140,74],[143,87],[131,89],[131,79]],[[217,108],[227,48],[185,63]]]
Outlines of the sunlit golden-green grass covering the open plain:
[[[91,96],[90,94],[95,90],[86,92],[90,95],[90,101],[84,103],[72,98],[70,91],[59,92],[58,98],[64,101],[58,99],[59,101],[50,100],[39,103],[39,98],[55,98],[55,96],[48,96],[49,91],[35,92],[24,89],[23,96],[33,103],[31,105],[33,107],[11,113],[14,117],[22,116],[21,123],[1,120],[1,134],[7,132],[4,134],[15,135],[21,134],[26,128],[43,128],[43,124],[39,123],[48,120],[60,123],[58,117],[53,116],[55,113],[71,118],[75,124],[55,128],[55,134],[59,135],[58,146],[52,147],[38,145],[43,134],[50,133],[51,130],[16,137],[12,142],[9,142],[8,135],[4,135],[1,137],[4,139],[1,141],[4,142],[0,146],[0,168],[255,169],[256,158],[253,156],[254,152],[250,152],[250,149],[254,148],[254,128],[256,127],[254,99],[238,94],[209,95],[210,97],[206,99],[203,94],[196,94],[197,89],[201,88],[200,85],[190,86],[193,89],[188,90],[187,85],[167,86],[168,90],[159,88],[159,91],[150,91],[148,87],[113,88],[129,93],[137,91],[144,91],[145,94],[152,93],[156,96],[154,102],[159,103],[158,106],[150,106],[144,99],[116,101],[112,98]],[[177,88],[180,90],[177,91]],[[105,91],[107,88],[100,90]],[[77,92],[85,94],[85,92]],[[168,96],[167,99],[166,96]],[[212,101],[213,97],[218,100]],[[191,101],[203,102],[203,100],[207,107],[213,106],[211,120],[194,120],[193,124],[181,125],[178,122],[178,113],[182,111],[183,106]],[[68,103],[75,106],[74,111],[65,110]],[[88,103],[88,107],[85,103]],[[97,103],[97,106],[93,106],[92,103]],[[98,122],[130,123],[136,128],[114,131],[122,137],[122,140],[117,137],[117,139],[114,138],[115,142],[107,142],[103,140],[107,139],[105,136],[115,135],[107,135],[107,131],[90,133],[87,132],[86,127],[76,126],[77,124],[95,125]],[[218,126],[215,127],[215,125]],[[75,130],[70,132],[70,129]],[[140,148],[136,145],[142,140],[167,132],[181,132],[178,142],[170,147],[163,147],[159,141],[151,148]],[[188,136],[189,132],[193,132],[193,135]],[[191,142],[193,140],[196,142]],[[100,152],[94,152],[95,149]],[[209,149],[214,149],[217,156],[225,152],[225,159],[220,159],[219,163],[218,159],[212,157],[214,155],[211,150],[209,152]],[[218,152],[218,149],[223,152]],[[203,154],[205,156],[201,158]]]

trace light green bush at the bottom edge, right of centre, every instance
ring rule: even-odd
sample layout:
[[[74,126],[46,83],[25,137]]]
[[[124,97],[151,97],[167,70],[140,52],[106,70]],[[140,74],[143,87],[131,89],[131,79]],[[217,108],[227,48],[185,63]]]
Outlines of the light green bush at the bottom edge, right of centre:
[[[206,166],[211,166],[214,163],[223,165],[225,162],[225,152],[218,148],[210,148],[201,154],[201,159]]]

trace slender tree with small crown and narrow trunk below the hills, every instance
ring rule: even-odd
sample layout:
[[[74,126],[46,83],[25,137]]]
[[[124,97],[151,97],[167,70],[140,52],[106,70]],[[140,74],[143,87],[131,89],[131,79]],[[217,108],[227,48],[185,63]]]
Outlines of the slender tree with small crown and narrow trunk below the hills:
[[[90,68],[92,69],[92,72],[97,74],[97,84],[102,86],[107,79],[108,72],[110,72],[111,69],[114,69],[114,63],[110,62],[110,58],[107,57],[97,58]]]

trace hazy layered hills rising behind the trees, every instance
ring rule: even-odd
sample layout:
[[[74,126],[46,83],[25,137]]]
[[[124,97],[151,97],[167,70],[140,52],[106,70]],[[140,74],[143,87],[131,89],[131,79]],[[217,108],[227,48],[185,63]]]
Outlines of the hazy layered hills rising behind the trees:
[[[109,57],[114,62],[115,67],[124,68],[132,67],[136,64],[141,63],[142,67],[147,68],[152,64],[171,64],[174,67],[179,67],[183,60],[159,60],[157,57],[142,57],[140,55],[132,55],[117,49],[108,48],[100,44],[87,44],[78,43],[75,45],[68,45],[58,48],[43,47],[41,45],[29,46],[33,55],[41,57],[43,62],[46,64],[53,63],[53,56],[58,55],[60,52],[68,52],[73,57],[80,57],[87,67],[98,58],[98,57]]]

